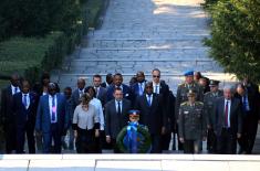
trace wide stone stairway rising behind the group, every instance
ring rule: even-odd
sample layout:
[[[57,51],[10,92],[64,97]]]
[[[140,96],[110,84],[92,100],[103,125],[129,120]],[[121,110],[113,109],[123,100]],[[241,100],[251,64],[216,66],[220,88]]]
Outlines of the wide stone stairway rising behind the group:
[[[137,71],[147,79],[157,67],[174,93],[184,71],[193,68],[223,84],[231,75],[208,57],[209,38],[202,0],[111,0],[101,30],[90,31],[83,44],[52,75],[61,87],[75,87],[77,77],[91,84],[93,74],[119,72],[124,82]],[[103,77],[104,78],[104,77]]]

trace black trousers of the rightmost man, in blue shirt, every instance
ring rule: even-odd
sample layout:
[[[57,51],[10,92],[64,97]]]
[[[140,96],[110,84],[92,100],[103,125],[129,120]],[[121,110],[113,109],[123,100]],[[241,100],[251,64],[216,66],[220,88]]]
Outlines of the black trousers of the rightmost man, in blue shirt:
[[[250,154],[254,145],[258,131],[258,118],[248,113],[243,118],[242,137],[238,140],[241,152]]]

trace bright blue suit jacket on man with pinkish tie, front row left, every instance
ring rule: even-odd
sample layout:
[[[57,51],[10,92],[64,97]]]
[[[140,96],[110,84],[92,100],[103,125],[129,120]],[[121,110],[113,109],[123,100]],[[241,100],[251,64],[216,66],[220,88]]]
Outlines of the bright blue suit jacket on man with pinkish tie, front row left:
[[[70,114],[67,110],[66,99],[63,95],[56,94],[56,116],[59,133],[64,132],[69,127]],[[49,108],[49,95],[41,96],[37,113],[35,130],[49,133],[51,131],[51,118]]]

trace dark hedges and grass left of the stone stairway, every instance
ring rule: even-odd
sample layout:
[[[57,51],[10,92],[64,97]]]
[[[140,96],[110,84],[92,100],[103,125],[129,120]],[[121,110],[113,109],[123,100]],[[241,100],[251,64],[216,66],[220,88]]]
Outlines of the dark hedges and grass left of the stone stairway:
[[[34,82],[43,71],[58,67],[89,25],[96,26],[105,1],[0,1],[0,36],[6,39],[0,42],[1,74],[18,72]]]

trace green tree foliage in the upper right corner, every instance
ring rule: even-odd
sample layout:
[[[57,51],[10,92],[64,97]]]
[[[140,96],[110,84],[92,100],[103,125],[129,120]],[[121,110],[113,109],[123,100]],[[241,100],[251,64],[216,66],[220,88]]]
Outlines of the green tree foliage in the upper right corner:
[[[210,55],[226,72],[260,83],[260,1],[220,0],[210,13]]]

